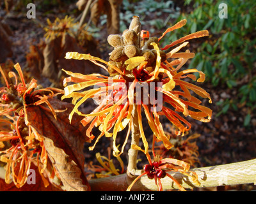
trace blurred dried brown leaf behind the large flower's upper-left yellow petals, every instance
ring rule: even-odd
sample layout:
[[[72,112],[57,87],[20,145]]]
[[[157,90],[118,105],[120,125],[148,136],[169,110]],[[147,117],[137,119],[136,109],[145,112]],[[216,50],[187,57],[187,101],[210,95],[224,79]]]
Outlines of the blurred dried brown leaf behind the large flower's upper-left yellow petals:
[[[60,71],[62,68],[82,74],[100,72],[99,66],[96,66],[90,61],[65,59],[65,54],[71,51],[90,53],[93,56],[100,57],[100,54],[95,47],[97,47],[97,43],[93,38],[86,41],[84,47],[81,47],[78,45],[76,39],[68,34],[65,35],[65,42],[63,45],[61,45],[61,37],[46,41],[46,46],[43,51],[44,69],[42,75],[49,78],[56,86],[61,87],[60,81],[62,82],[62,80]]]

